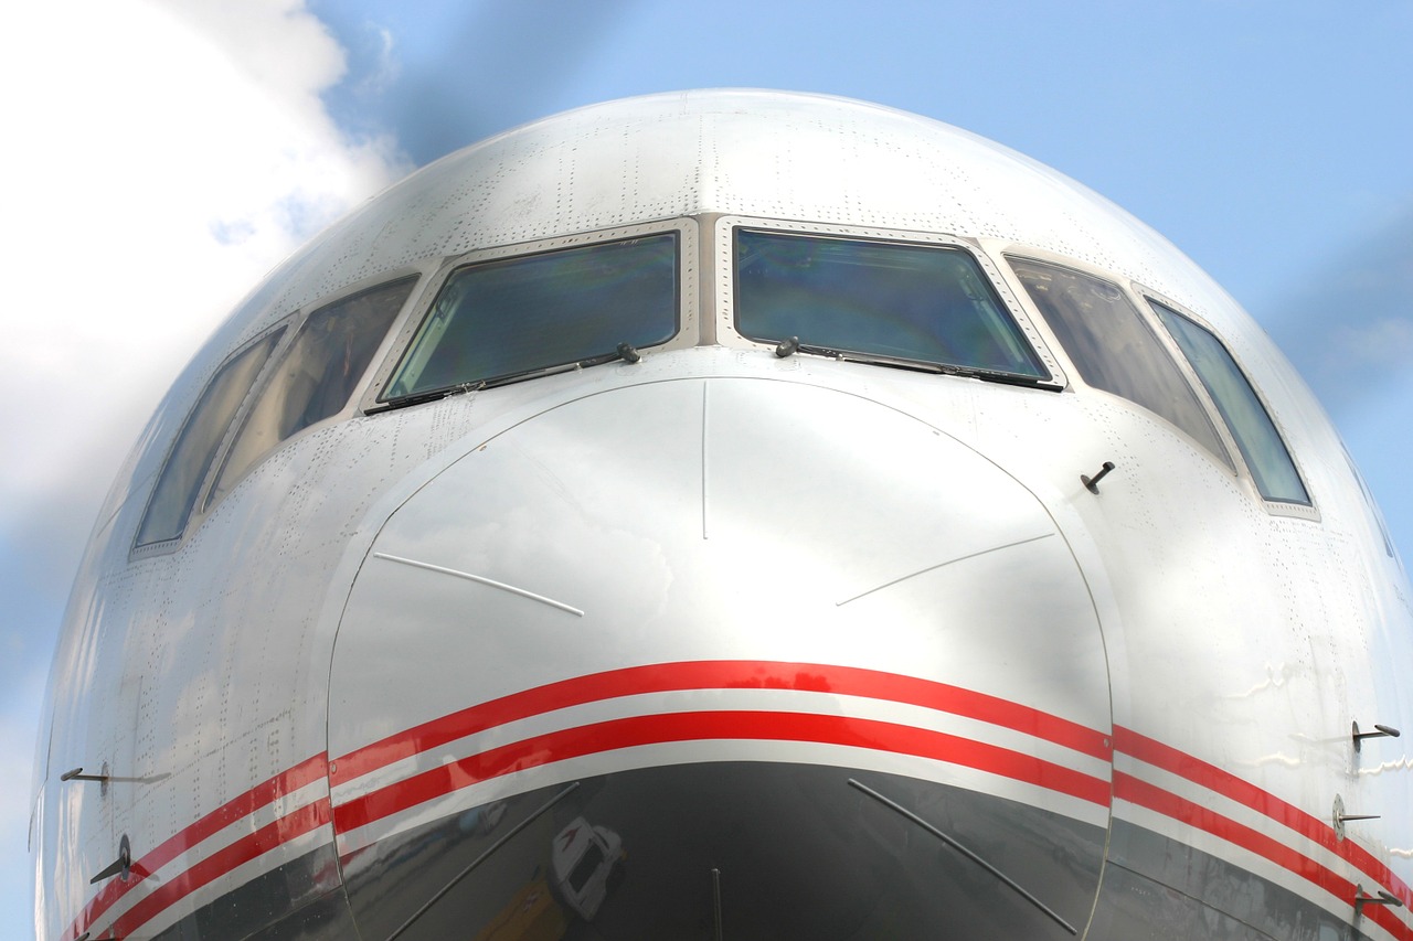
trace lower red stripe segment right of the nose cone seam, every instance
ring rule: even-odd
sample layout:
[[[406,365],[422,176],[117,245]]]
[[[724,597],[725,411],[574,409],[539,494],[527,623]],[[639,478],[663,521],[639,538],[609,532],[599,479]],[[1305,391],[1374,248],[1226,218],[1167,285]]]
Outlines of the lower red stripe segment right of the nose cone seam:
[[[1149,739],[1149,742],[1152,742],[1152,739]],[[1153,745],[1157,743],[1153,742]],[[1161,747],[1166,749],[1167,746]],[[1174,750],[1174,754],[1181,754],[1181,752]],[[1191,756],[1183,757],[1188,762],[1201,763]],[[1241,784],[1251,787],[1245,781],[1241,781]],[[1265,794],[1265,791],[1259,793]],[[1266,797],[1270,795],[1266,794]],[[1214,810],[1202,807],[1201,804],[1194,804],[1184,797],[1178,797],[1171,791],[1166,791],[1154,784],[1149,784],[1147,781],[1136,779],[1132,774],[1125,774],[1119,770],[1113,771],[1113,798],[1157,811],[1164,817],[1170,817],[1178,822],[1187,824],[1188,827],[1195,827],[1197,829],[1224,839],[1234,846],[1251,851],[1324,889],[1335,899],[1348,903],[1351,910],[1354,909],[1356,886],[1352,882],[1316,862],[1310,856],[1306,856],[1304,853],[1294,851],[1280,841],[1266,836],[1245,824],[1238,824],[1229,817],[1224,817]],[[1270,797],[1270,800],[1276,798]],[[1413,930],[1403,924],[1402,918],[1399,918],[1393,911],[1389,911],[1385,906],[1365,906],[1364,916],[1379,924],[1396,938],[1403,941],[1413,940]]]

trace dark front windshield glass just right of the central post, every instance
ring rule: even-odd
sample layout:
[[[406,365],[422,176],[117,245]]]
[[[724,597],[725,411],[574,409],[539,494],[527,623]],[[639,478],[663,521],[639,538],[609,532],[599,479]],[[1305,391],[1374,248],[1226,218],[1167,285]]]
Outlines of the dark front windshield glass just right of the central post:
[[[738,229],[735,284],[755,341],[1050,377],[962,249]]]

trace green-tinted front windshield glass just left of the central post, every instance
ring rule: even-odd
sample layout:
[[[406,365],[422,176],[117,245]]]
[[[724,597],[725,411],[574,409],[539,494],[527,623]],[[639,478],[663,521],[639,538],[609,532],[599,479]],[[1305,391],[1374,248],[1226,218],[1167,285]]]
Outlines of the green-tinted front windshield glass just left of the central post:
[[[677,333],[677,233],[458,268],[379,401],[612,357]]]

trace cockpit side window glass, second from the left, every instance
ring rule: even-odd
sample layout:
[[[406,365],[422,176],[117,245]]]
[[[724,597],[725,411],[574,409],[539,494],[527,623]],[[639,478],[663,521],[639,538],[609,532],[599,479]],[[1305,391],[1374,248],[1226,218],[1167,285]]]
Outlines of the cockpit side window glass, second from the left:
[[[341,411],[417,278],[403,278],[311,314],[246,414],[208,497],[219,500],[277,444]]]

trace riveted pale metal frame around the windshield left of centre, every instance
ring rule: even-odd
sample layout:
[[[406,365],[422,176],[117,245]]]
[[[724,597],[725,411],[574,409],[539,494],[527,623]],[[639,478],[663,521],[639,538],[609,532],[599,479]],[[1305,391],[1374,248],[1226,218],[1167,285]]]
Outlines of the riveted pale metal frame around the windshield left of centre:
[[[417,338],[422,324],[431,314],[442,288],[447,287],[451,277],[461,268],[473,267],[485,261],[502,261],[548,254],[561,249],[578,249],[605,242],[626,242],[644,236],[667,235],[670,232],[677,233],[677,331],[667,341],[644,348],[644,352],[697,346],[699,324],[698,311],[701,307],[701,278],[698,223],[697,219],[691,216],[674,216],[656,222],[616,226],[612,229],[595,229],[592,232],[555,236],[551,239],[536,239],[531,242],[517,242],[514,244],[475,249],[472,251],[438,260],[435,270],[424,280],[420,292],[414,291],[415,298],[408,305],[408,309],[403,312],[404,319],[401,325],[394,328],[393,341],[387,345],[386,352],[380,352],[374,360],[377,362],[377,369],[373,372],[372,381],[367,384],[362,398],[359,400],[359,411],[363,414],[382,414],[404,407],[396,400],[384,400],[383,394],[387,390],[393,374],[396,374],[397,369],[401,366],[403,357],[408,355],[413,341]],[[526,379],[526,381],[533,380]]]

